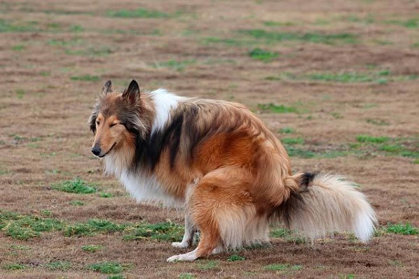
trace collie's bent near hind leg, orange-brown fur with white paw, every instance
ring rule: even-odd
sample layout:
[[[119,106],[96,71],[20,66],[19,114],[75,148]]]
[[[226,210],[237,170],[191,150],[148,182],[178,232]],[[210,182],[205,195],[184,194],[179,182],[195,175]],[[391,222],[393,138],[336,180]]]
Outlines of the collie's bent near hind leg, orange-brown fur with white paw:
[[[242,187],[244,179],[243,173],[232,167],[218,169],[201,179],[188,204],[200,231],[200,242],[195,250],[172,256],[168,262],[193,261],[242,245],[247,221],[254,214],[251,198]]]

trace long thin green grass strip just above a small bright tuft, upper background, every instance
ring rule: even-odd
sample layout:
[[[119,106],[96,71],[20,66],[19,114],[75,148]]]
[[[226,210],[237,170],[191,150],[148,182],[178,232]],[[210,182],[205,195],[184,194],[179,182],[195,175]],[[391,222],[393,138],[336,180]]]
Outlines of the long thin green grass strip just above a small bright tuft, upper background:
[[[358,36],[352,33],[293,33],[293,32],[274,32],[266,31],[263,29],[248,29],[242,30],[240,33],[251,36],[258,40],[265,40],[266,43],[284,42],[288,40],[294,40],[304,43],[323,43],[323,44],[335,44],[345,43],[354,44],[358,43]]]

